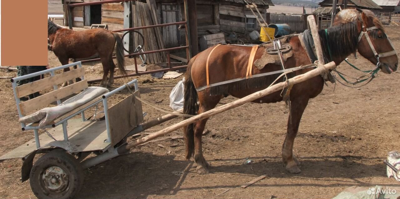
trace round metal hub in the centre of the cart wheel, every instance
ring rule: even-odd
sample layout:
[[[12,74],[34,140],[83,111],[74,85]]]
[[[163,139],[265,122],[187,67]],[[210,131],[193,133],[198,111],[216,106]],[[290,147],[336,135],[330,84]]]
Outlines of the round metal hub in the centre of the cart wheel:
[[[68,175],[61,167],[48,167],[43,175],[44,188],[52,192],[61,192],[68,187]]]

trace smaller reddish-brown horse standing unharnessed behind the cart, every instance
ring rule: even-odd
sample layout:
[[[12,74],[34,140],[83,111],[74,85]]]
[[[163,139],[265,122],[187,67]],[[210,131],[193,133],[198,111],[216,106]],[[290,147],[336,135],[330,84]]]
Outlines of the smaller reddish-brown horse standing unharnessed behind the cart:
[[[74,31],[57,26],[48,20],[48,39],[54,54],[62,65],[68,64],[69,58],[88,58],[97,53],[104,71],[103,80],[100,84],[102,87],[110,87],[111,84],[114,84],[115,64],[112,60],[112,52],[115,43],[117,43],[118,68],[122,74],[126,75],[124,46],[117,33],[101,28]],[[64,72],[69,70],[69,68],[66,68]],[[108,72],[110,72],[110,79],[107,83]],[[65,83],[63,86],[65,86]]]

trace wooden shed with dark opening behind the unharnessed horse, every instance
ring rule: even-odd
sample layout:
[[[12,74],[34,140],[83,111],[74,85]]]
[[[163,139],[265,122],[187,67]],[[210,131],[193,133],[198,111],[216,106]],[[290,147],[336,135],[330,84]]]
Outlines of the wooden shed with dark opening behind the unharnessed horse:
[[[68,4],[94,2],[100,0],[62,0],[64,5],[64,25],[68,26],[66,6]],[[84,28],[92,24],[107,24],[108,30],[124,28],[124,6],[122,3],[108,3],[91,6],[77,6],[72,10],[73,27]]]

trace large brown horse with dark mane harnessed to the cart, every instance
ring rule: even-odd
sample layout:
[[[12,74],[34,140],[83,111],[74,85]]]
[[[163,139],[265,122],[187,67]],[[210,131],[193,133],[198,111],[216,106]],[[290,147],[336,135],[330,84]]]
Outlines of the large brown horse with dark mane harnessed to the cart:
[[[371,28],[375,26],[376,29]],[[364,32],[367,33],[373,46],[370,46],[366,36],[360,37],[361,34],[364,35]],[[390,41],[386,38],[384,28],[380,21],[374,16],[367,16],[367,14],[362,13],[361,16],[353,22],[329,28],[327,30],[327,35],[325,30],[320,30],[319,36],[324,51],[324,57],[328,61],[334,61],[336,65],[340,64],[347,56],[358,49],[358,52],[360,52],[364,58],[370,60],[372,64],[377,65],[382,72],[390,74],[397,70],[397,55],[393,54],[395,53],[394,49],[392,48]],[[285,68],[294,68],[296,66],[311,64],[298,36],[292,36],[289,40],[289,44],[292,46],[293,56],[287,59],[284,64]],[[328,44],[330,46],[332,58],[329,56]],[[381,57],[378,62],[378,59],[374,56],[372,47],[379,54],[391,52],[392,55]],[[189,62],[184,91],[185,114],[196,115],[213,109],[220,99],[227,95],[232,95],[236,98],[243,98],[244,96],[266,88],[276,78],[276,76],[265,78],[263,79],[263,82],[259,81],[253,85],[248,84],[248,82],[238,82],[238,85],[220,85],[197,91],[196,89],[207,85],[206,77],[208,75],[206,72],[206,60],[208,58],[210,84],[246,77],[246,68],[252,48],[246,46],[220,45],[211,53],[214,48],[215,47],[211,47],[201,52],[194,56]],[[264,48],[258,48],[254,60],[258,60],[264,54],[264,50]],[[266,64],[261,70],[254,67],[252,69],[252,74],[262,74],[281,69],[280,65]],[[293,72],[291,76],[304,74],[309,70],[312,70],[312,68],[297,70]],[[282,82],[282,80],[283,79],[280,78],[279,81]],[[237,89],[243,88],[243,85],[246,85],[246,88],[242,90]],[[298,167],[300,163],[293,155],[294,138],[298,131],[300,119],[308,104],[308,100],[318,96],[323,88],[324,80],[321,76],[318,76],[294,85],[290,92],[289,98],[291,101],[291,111],[286,138],[282,146],[282,160],[286,169],[290,173],[301,172]],[[220,92],[218,93],[218,91]],[[197,105],[197,100],[200,103],[199,106]],[[280,92],[270,94],[253,102],[275,103],[278,101],[282,101]],[[196,171],[198,173],[208,173],[207,167],[209,165],[202,154],[202,132],[206,125],[206,121],[207,119],[204,119],[184,127],[186,159],[189,160],[192,156],[194,157],[194,161],[197,163]]]

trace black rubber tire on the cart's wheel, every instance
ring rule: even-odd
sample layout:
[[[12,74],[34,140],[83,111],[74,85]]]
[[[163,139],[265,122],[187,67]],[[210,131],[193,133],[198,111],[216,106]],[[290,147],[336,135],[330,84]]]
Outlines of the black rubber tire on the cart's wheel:
[[[42,173],[51,166],[61,167],[68,175],[69,185],[59,197],[48,195],[42,189]],[[35,162],[30,171],[30,187],[38,199],[72,199],[83,185],[84,173],[79,161],[63,150],[46,153]]]

